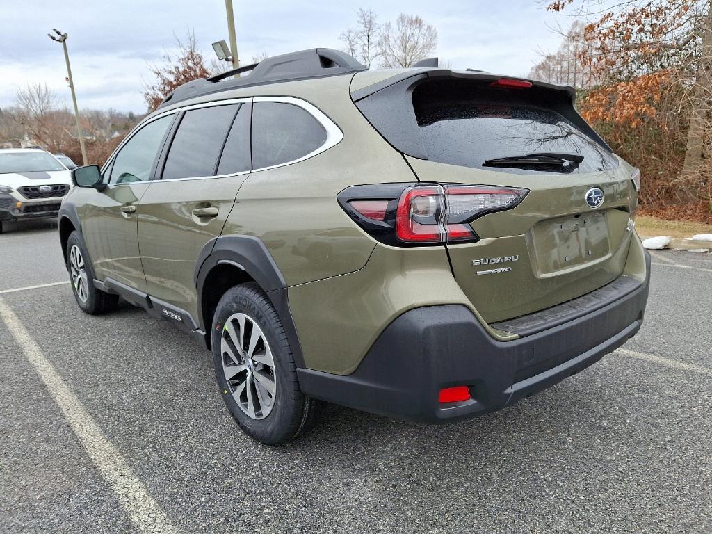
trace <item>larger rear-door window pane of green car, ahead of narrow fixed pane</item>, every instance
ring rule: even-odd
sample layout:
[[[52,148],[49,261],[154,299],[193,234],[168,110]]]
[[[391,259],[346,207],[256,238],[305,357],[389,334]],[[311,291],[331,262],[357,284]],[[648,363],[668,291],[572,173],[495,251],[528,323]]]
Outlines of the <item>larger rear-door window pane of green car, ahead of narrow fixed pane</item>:
[[[214,176],[239,107],[216,105],[185,112],[171,142],[162,179]]]

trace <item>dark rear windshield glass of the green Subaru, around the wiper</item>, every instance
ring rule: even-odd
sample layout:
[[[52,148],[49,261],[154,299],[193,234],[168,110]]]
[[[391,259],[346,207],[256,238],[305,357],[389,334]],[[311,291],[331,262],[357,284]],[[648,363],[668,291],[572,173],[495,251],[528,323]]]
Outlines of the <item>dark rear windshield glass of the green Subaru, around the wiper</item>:
[[[431,161],[527,174],[617,167],[617,159],[602,145],[557,112],[561,105],[560,99],[542,98],[540,90],[503,90],[464,80],[432,80],[413,92],[419,137]],[[484,165],[489,159],[537,152],[584,159],[562,167]]]

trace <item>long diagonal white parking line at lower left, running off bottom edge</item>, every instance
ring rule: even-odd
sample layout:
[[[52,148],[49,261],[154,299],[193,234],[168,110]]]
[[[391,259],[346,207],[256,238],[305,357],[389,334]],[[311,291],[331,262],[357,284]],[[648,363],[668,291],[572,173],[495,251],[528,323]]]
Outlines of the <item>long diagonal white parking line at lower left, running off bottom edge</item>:
[[[91,461],[115,493],[117,500],[142,533],[176,533],[165,513],[126,461],[106,438],[79,399],[43,355],[14,311],[0,297],[0,318],[20,346],[27,360],[64,412]]]

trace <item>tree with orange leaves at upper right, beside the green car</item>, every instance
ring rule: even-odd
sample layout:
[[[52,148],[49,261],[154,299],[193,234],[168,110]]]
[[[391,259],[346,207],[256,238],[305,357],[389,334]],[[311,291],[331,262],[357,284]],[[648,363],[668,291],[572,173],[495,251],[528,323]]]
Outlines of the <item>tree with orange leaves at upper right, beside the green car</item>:
[[[555,0],[548,9],[562,11],[574,1]],[[588,15],[592,6],[586,4]],[[588,112],[635,127],[641,124],[640,115],[655,115],[651,100],[659,101],[662,91],[679,86],[688,115],[682,172],[709,165],[712,0],[626,0],[597,15],[584,33],[584,40],[597,46],[593,51],[582,47],[579,57],[604,80],[599,93],[591,95]]]

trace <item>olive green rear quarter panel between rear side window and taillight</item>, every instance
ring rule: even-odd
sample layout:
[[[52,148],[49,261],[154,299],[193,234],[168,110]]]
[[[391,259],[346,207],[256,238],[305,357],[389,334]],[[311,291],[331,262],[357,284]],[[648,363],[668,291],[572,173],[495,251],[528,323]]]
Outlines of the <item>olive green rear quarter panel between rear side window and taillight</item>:
[[[375,132],[352,103],[350,76],[268,85],[254,96],[301,98],[343,133],[325,152],[301,162],[253,171],[242,185],[223,234],[260,238],[288,286],[357,271],[376,241],[337,204],[354,184],[414,182],[399,153]],[[300,310],[293,308],[298,315]]]

